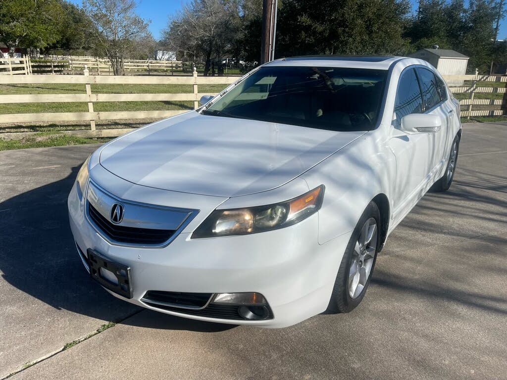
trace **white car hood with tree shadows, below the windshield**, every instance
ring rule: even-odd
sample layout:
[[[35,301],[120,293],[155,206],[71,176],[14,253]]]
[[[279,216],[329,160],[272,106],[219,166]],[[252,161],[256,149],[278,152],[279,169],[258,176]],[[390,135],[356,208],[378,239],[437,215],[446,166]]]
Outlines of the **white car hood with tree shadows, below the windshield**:
[[[235,197],[281,186],[362,134],[192,111],[112,141],[100,164],[144,186]]]

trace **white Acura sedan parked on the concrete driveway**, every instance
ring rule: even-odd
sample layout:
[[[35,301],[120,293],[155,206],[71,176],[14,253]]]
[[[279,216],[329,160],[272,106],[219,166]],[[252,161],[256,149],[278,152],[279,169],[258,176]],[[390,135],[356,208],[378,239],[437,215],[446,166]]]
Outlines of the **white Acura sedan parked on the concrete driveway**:
[[[459,103],[430,64],[272,61],[95,151],[68,197],[93,279],[180,317],[284,327],[365,296],[377,254],[456,168]]]

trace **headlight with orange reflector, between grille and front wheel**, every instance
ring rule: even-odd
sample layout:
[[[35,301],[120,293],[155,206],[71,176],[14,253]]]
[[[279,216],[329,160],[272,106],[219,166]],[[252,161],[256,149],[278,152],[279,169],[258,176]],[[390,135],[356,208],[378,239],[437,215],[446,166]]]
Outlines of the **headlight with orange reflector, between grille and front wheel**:
[[[192,239],[213,236],[246,235],[277,230],[296,224],[320,209],[324,185],[286,202],[232,210],[214,210],[197,230]]]

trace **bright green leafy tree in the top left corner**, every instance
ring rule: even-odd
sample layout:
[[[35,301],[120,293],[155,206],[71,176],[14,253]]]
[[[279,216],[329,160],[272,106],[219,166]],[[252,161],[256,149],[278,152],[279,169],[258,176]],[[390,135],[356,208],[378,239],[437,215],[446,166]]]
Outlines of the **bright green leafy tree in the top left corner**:
[[[17,47],[44,49],[60,38],[63,19],[56,0],[2,0],[0,41],[11,54]]]

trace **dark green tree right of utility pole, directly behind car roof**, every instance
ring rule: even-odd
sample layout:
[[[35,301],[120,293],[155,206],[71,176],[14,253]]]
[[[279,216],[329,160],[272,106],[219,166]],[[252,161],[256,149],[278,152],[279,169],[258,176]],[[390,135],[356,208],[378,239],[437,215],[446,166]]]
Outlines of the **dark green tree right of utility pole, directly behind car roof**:
[[[277,57],[404,54],[405,0],[286,0],[279,10]]]

